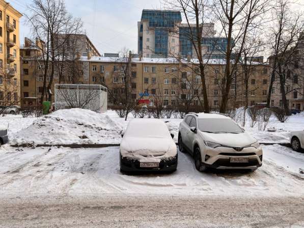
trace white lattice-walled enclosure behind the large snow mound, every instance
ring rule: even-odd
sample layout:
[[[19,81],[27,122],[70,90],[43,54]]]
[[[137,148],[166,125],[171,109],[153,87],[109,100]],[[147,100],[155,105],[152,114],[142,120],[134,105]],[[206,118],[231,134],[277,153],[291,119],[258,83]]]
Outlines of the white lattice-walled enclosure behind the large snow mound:
[[[100,84],[55,84],[55,109],[107,109],[107,88]]]

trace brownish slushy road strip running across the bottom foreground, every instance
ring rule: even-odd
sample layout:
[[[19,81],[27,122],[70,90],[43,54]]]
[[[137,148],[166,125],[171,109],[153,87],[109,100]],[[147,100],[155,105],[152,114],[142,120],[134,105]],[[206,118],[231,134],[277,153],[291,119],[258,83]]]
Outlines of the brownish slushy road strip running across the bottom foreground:
[[[0,200],[1,227],[304,227],[304,198],[36,197]]]

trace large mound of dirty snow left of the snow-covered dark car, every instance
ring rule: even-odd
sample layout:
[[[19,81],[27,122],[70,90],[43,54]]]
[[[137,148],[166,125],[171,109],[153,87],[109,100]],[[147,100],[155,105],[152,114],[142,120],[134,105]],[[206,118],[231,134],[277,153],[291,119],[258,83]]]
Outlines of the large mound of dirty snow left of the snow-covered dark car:
[[[10,137],[20,144],[117,144],[122,128],[104,113],[87,109],[62,109],[39,118]]]

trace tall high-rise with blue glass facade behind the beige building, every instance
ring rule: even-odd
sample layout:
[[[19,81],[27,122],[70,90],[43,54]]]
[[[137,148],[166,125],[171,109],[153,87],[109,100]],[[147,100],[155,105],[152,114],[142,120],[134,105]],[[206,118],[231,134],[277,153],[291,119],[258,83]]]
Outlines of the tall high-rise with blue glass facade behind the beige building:
[[[190,55],[196,58],[191,33],[196,33],[196,25],[181,23],[180,11],[143,10],[141,21],[137,22],[138,53],[144,58]],[[223,58],[227,49],[227,39],[214,37],[213,23],[201,25],[202,47],[205,58]]]

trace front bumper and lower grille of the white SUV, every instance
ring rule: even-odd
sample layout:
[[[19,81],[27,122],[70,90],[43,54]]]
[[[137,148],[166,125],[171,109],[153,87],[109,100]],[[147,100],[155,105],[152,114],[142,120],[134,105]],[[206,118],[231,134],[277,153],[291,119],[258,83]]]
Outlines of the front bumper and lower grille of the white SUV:
[[[207,159],[206,155],[209,156]],[[230,162],[230,158],[248,158],[248,162]],[[256,169],[262,166],[262,148],[247,147],[236,152],[233,148],[217,147],[207,149],[202,162],[206,167],[216,169]]]

